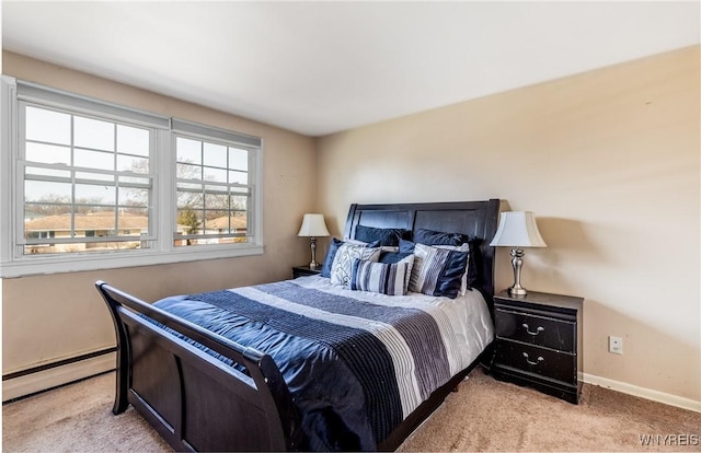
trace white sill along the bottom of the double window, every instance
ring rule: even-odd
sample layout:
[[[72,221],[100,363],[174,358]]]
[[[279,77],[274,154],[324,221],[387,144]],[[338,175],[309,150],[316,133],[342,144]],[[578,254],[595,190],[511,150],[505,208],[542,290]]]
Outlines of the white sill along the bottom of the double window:
[[[128,256],[105,254],[80,256],[28,257],[0,265],[0,278],[30,277],[64,272],[117,269],[124,267],[156,266],[205,259],[233,258],[262,255],[263,245],[237,245],[232,247],[207,246],[182,247],[172,252],[129,252]]]

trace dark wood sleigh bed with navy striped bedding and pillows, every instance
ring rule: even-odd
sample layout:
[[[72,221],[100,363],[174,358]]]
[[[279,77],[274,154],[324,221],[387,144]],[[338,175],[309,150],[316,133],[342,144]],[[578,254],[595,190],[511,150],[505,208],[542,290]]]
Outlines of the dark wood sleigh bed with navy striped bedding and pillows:
[[[113,413],[177,451],[395,450],[491,353],[498,208],[352,205],[321,276],[152,304],[97,281]]]

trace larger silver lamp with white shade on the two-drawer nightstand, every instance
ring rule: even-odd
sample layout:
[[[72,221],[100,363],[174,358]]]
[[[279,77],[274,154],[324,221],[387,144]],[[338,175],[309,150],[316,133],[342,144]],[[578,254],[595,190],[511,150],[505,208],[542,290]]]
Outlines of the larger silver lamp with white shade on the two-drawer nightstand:
[[[490,245],[513,247],[514,286],[508,289],[508,293],[510,295],[526,295],[526,288],[521,287],[521,266],[524,265],[521,247],[548,246],[538,231],[536,216],[531,211],[502,212],[499,226]]]

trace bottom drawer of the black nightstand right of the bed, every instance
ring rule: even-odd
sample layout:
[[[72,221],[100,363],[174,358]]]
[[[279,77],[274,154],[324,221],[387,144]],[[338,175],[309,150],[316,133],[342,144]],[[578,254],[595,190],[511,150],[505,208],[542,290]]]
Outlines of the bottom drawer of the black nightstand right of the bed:
[[[496,362],[567,384],[577,383],[577,357],[571,353],[501,340],[496,347]]]

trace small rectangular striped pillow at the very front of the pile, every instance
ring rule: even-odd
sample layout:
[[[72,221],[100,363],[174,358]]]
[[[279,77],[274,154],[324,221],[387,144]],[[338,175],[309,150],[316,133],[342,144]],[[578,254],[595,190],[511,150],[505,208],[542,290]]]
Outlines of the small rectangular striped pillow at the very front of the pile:
[[[356,259],[353,263],[350,289],[387,295],[405,295],[413,265],[414,255],[409,255],[393,264]]]

